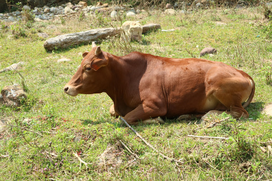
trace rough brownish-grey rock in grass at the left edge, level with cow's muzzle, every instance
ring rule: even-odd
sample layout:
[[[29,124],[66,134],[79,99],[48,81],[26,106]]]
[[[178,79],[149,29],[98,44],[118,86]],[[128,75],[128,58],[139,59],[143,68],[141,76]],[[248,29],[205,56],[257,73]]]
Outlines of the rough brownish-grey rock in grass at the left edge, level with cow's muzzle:
[[[26,98],[26,93],[19,85],[8,85],[1,91],[0,104],[8,107],[19,107],[21,101]]]

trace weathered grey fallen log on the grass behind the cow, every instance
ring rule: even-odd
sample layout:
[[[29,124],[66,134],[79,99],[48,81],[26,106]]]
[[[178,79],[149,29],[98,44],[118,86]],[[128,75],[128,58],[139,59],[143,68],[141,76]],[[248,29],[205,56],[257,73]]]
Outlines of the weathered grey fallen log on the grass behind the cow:
[[[146,33],[152,29],[160,28],[160,24],[147,24],[143,26],[143,33]],[[67,48],[69,46],[91,43],[93,41],[97,41],[98,39],[105,39],[108,36],[111,37],[120,33],[121,28],[100,28],[77,33],[69,33],[47,39],[44,42],[43,47],[47,51],[52,51],[58,48]]]

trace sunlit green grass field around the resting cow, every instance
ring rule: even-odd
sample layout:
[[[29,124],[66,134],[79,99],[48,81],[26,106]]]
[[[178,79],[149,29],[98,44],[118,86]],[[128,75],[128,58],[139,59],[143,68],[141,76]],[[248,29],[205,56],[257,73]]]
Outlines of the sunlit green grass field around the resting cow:
[[[0,157],[1,180],[272,179],[272,153],[269,152],[272,122],[271,117],[261,112],[272,103],[269,81],[272,44],[271,37],[267,36],[269,21],[263,19],[261,7],[198,10],[175,16],[149,11],[137,18],[121,17],[121,22],[100,14],[95,16],[77,15],[28,25],[26,22],[13,26],[1,24],[0,68],[19,61],[26,64],[19,70],[22,76],[17,72],[1,73],[0,89],[14,83],[22,85],[23,78],[28,89],[28,99],[20,108],[0,106],[0,120],[10,124],[0,133],[0,154],[9,155]],[[230,119],[213,128],[197,125],[197,119],[168,119],[164,125],[134,127],[155,148],[183,163],[175,164],[155,154],[121,121],[110,117],[112,101],[106,94],[65,95],[62,87],[76,72],[82,53],[90,50],[91,45],[46,52],[44,40],[36,33],[44,32],[51,38],[90,28],[119,26],[126,20],[139,20],[141,24],[156,22],[162,29],[175,31],[151,31],[143,36],[140,44],[125,45],[119,37],[112,37],[100,41],[102,50],[114,55],[138,50],[164,57],[189,58],[198,57],[202,48],[214,47],[218,53],[204,58],[227,63],[253,77],[256,93],[247,108],[250,119]],[[16,37],[12,31],[15,27],[22,28],[24,36],[16,34]],[[73,61],[57,63],[61,57]],[[230,139],[199,139],[187,137],[188,134]],[[135,160],[119,140],[141,159]],[[112,147],[112,159],[107,158],[101,164],[99,156],[107,147]],[[84,164],[80,167],[74,153],[91,163],[89,168]]]

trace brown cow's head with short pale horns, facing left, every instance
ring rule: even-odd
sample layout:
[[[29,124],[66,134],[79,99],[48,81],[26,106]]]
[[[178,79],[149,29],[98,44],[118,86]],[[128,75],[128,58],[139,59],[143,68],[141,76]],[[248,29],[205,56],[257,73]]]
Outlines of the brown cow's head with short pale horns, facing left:
[[[63,88],[70,96],[101,93],[107,84],[105,76],[108,71],[102,68],[108,64],[107,53],[102,52],[100,46],[93,42],[92,50],[84,52],[82,56],[78,71]]]

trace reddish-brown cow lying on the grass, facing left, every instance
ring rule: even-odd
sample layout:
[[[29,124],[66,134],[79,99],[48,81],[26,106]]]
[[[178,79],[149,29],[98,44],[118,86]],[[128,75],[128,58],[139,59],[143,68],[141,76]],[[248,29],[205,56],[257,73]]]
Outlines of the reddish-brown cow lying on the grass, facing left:
[[[140,52],[119,57],[96,45],[83,57],[64,92],[71,96],[105,92],[114,103],[111,115],[124,116],[129,124],[163,123],[158,117],[211,110],[216,111],[208,115],[227,111],[235,118],[249,116],[244,108],[254,96],[254,81],[222,62]]]

